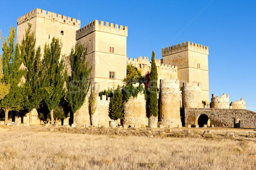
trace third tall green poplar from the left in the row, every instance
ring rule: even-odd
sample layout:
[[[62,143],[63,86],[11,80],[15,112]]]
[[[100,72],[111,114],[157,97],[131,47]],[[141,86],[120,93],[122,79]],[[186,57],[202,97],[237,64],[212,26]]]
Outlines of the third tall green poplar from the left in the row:
[[[49,45],[44,46],[44,59],[42,62],[42,87],[44,87],[44,102],[51,114],[51,123],[54,121],[53,111],[65,95],[64,82],[67,79],[64,57],[61,57],[61,43],[59,39],[52,38]]]

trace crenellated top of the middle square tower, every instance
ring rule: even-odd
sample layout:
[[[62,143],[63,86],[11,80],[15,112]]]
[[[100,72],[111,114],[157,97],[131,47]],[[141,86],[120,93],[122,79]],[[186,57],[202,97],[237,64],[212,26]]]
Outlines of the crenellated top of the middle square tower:
[[[84,37],[93,31],[108,32],[111,34],[118,34],[125,37],[128,36],[127,26],[118,26],[117,24],[109,24],[108,22],[105,22],[104,24],[103,21],[99,22],[99,20],[94,20],[93,22],[76,31],[76,40],[79,40],[81,37]]]

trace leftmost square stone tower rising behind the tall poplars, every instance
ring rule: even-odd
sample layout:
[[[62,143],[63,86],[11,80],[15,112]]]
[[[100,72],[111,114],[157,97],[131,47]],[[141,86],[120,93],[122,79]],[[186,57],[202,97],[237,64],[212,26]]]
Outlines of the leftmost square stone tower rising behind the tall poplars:
[[[76,30],[80,28],[80,22],[74,18],[35,8],[17,19],[17,43],[22,41],[28,23],[31,23],[31,31],[35,32],[35,45],[41,46],[41,54],[44,54],[45,43],[51,43],[55,37],[62,42],[61,54],[67,56],[76,44]]]

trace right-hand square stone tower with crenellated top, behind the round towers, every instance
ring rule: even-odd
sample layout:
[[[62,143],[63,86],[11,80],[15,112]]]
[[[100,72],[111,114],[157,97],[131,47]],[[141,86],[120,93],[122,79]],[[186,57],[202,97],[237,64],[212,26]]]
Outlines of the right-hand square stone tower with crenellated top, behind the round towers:
[[[209,103],[208,47],[187,41],[162,48],[164,64],[177,65],[180,87],[183,82],[201,82],[202,101]]]

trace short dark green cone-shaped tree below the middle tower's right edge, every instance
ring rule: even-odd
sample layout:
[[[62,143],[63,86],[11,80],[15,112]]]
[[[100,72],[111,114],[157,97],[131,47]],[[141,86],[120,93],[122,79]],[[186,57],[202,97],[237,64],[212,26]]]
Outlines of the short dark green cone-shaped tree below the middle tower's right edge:
[[[109,106],[109,117],[113,120],[123,118],[124,103],[122,98],[122,90],[118,85],[116,90],[113,92],[113,97],[111,98]]]

